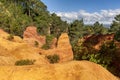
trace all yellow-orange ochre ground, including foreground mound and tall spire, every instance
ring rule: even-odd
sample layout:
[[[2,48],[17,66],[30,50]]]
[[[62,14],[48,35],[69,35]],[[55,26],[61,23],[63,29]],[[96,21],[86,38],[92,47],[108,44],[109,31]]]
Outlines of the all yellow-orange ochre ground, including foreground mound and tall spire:
[[[8,33],[1,30],[0,33],[0,80],[119,80],[98,64],[70,61],[73,52],[66,33],[59,37],[57,47],[49,50],[30,46],[18,36],[10,41]],[[48,63],[45,55],[55,53],[64,63]],[[30,66],[15,66],[21,59],[35,59],[36,62]]]

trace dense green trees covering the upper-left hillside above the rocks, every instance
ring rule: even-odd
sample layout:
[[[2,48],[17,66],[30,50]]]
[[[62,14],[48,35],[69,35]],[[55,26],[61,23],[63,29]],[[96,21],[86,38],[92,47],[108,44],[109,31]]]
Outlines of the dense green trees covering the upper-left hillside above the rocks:
[[[55,13],[50,14],[41,0],[1,0],[0,17],[2,29],[21,37],[29,25],[37,26],[41,35],[53,34],[55,37],[66,32],[68,26]]]

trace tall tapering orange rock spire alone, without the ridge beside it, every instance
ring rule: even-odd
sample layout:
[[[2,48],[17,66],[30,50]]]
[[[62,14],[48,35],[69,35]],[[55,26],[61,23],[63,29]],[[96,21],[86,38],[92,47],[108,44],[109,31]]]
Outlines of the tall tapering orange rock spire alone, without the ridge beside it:
[[[60,54],[61,61],[69,61],[73,59],[72,46],[67,33],[61,34],[57,43],[57,52]]]

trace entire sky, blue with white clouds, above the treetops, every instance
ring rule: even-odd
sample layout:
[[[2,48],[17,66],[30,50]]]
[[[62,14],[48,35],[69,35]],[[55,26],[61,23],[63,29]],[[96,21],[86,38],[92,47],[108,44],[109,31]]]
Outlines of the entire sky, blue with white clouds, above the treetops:
[[[110,24],[120,14],[120,0],[42,0],[50,12],[71,22],[84,19],[85,23],[99,21]]]

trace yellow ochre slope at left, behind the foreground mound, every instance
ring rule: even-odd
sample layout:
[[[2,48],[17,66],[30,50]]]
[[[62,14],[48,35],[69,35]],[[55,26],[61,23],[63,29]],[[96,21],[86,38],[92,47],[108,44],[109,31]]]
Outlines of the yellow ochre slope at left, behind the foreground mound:
[[[15,65],[17,60],[36,60],[35,64],[48,64],[45,55],[40,55],[39,50],[29,46],[20,37],[14,36],[8,40],[8,33],[0,31],[0,65]]]

